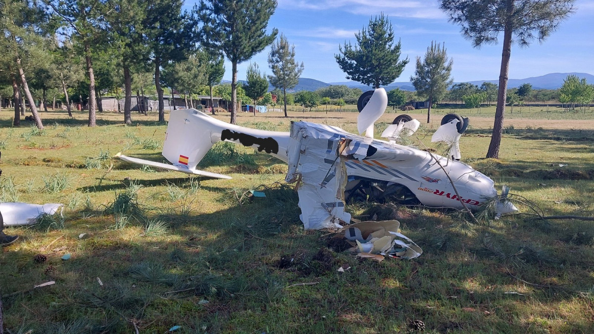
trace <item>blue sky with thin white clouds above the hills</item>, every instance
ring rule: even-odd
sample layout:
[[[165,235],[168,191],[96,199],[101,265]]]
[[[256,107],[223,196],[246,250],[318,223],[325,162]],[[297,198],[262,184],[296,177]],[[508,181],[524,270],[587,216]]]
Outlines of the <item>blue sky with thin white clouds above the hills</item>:
[[[445,42],[453,59],[454,81],[495,80],[501,65],[501,43],[472,48],[460,35],[460,27],[448,22],[438,2],[416,0],[277,0],[278,7],[268,28],[275,27],[295,45],[298,61],[304,62],[302,77],[326,83],[348,81],[334,54],[339,45],[355,43],[355,33],[372,16],[384,12],[396,38],[402,42],[402,56],[410,62],[396,81],[409,81],[415,59],[424,56],[432,40]],[[547,73],[580,72],[594,74],[594,0],[577,0],[576,12],[543,43],[528,48],[512,46],[510,78],[535,77]],[[503,34],[501,35],[503,39]],[[239,80],[245,79],[249,62],[270,74],[267,55],[270,47],[250,61],[238,65]],[[224,80],[231,80],[231,64],[226,62]]]

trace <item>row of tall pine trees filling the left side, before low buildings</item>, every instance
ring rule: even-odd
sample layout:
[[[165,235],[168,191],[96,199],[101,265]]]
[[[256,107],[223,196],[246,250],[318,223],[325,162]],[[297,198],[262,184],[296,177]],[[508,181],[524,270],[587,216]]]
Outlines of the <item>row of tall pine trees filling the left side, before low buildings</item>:
[[[35,101],[45,102],[46,93],[58,87],[68,108],[74,88],[80,92],[78,100],[85,96],[89,126],[94,126],[101,92],[112,90],[118,96],[124,87],[124,121],[131,124],[132,91],[137,88],[138,97],[154,85],[159,121],[165,121],[163,86],[189,96],[192,106],[192,93],[208,87],[212,96],[225,73],[223,57],[232,64],[235,123],[237,65],[276,39],[276,29],[270,34],[266,30],[277,3],[203,0],[191,11],[182,11],[182,5],[182,0],[0,0],[0,89],[13,88],[15,125],[20,122],[16,110],[23,109],[22,92],[37,127],[43,128]],[[268,57],[268,80],[283,91],[294,87],[303,71],[294,56],[295,49],[281,35]],[[256,66],[248,71],[245,86],[252,99],[264,95],[252,89]],[[41,96],[34,99],[31,92]]]

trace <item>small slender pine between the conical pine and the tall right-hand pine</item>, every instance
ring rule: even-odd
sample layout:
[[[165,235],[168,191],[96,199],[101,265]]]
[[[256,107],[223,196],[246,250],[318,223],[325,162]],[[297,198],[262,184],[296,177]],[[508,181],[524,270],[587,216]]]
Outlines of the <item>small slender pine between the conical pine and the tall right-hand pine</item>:
[[[454,80],[451,79],[451,65],[453,61],[448,61],[445,52],[445,43],[443,49],[440,43],[431,42],[427,48],[425,59],[416,58],[415,76],[410,77],[410,81],[415,86],[416,93],[428,99],[429,108],[427,109],[427,122],[431,122],[431,106],[434,100],[440,100],[444,97]]]

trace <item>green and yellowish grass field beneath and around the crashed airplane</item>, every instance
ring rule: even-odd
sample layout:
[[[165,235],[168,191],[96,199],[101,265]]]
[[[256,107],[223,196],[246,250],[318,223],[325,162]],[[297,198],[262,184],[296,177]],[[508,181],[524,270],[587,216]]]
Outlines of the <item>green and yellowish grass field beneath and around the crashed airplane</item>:
[[[491,109],[458,110],[471,125],[460,141],[463,160],[546,216],[594,216],[592,111],[516,107],[505,121],[501,159],[486,160]],[[418,112],[412,115],[426,119]],[[424,143],[447,112],[422,121]],[[517,204],[520,215],[476,224],[447,210],[350,201],[355,218],[400,220],[424,250],[409,261],[359,261],[328,232],[304,231],[280,160],[219,143],[201,169],[231,180],[143,169],[109,157],[162,161],[166,125],[156,115],[132,115],[135,125],[126,127],[121,114],[99,114],[94,128],[84,113],[41,115],[43,131],[25,122],[12,128],[11,112],[0,112],[2,201],[65,204],[64,219],[7,228],[21,236],[0,253],[8,333],[166,333],[173,326],[179,333],[386,333],[412,332],[413,320],[428,333],[594,332],[592,222],[536,219],[525,204]],[[238,123],[286,131],[290,120],[304,119],[355,131],[356,115],[320,107],[290,118],[241,114]],[[394,116],[382,116],[376,133]],[[48,260],[37,263],[36,254]],[[337,272],[343,264],[351,268]],[[47,281],[56,283],[30,291]]]

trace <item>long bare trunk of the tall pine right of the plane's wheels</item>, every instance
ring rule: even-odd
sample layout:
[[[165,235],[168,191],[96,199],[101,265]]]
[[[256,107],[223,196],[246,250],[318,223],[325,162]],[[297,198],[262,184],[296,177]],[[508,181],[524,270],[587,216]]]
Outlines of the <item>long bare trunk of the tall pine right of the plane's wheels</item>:
[[[507,0],[508,17],[511,17],[513,10],[513,0]],[[489,143],[489,150],[486,153],[486,158],[499,158],[499,146],[501,144],[503,119],[505,116],[505,99],[507,99],[507,80],[510,72],[511,32],[511,23],[505,23],[505,29],[503,33],[503,51],[501,55],[501,70],[499,73],[499,91],[497,92],[497,109],[495,109],[493,133],[491,135],[491,143]]]

